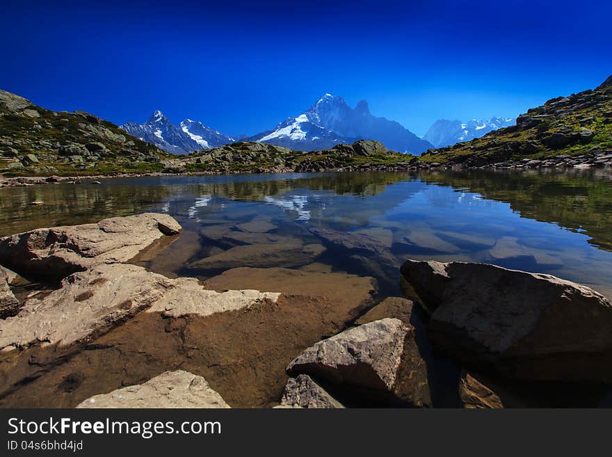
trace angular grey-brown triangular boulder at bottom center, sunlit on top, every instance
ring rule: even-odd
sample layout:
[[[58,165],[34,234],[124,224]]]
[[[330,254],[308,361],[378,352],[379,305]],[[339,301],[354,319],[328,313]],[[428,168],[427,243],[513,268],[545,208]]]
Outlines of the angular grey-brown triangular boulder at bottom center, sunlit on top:
[[[289,363],[289,374],[308,374],[335,384],[391,390],[408,328],[380,319],[351,328],[307,348]]]

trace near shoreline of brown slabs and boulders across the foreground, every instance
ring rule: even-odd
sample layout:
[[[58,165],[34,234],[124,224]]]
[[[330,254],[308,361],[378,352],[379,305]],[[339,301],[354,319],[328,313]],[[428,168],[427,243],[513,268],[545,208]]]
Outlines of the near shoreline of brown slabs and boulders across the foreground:
[[[258,266],[201,282],[131,263],[181,231],[140,214],[0,239],[0,407],[609,403],[612,304],[593,289],[488,264],[400,265],[366,234],[323,229],[317,246],[363,276]],[[380,268],[399,270],[405,297],[379,298]],[[42,285],[17,293],[24,282]]]

